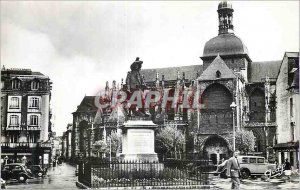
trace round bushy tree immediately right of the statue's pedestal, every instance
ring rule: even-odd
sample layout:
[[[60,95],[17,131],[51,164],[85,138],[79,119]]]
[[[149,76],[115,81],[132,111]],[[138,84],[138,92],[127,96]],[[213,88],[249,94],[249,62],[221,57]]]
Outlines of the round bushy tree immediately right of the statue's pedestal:
[[[169,124],[161,128],[156,136],[157,149],[159,152],[171,153],[183,151],[185,138],[175,124]]]

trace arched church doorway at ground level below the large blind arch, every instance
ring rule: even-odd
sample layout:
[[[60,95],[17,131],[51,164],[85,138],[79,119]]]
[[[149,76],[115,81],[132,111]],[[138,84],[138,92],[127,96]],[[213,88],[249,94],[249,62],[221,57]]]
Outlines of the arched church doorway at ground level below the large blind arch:
[[[205,141],[203,153],[212,160],[214,164],[218,164],[222,158],[227,159],[229,157],[228,143],[224,138],[218,135],[212,135]]]

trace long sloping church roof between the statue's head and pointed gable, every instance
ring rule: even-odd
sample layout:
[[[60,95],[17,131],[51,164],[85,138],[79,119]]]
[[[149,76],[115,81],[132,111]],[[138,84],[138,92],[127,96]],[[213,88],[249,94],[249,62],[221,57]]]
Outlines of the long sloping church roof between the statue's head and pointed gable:
[[[154,69],[142,69],[141,75],[144,75],[145,82],[153,82],[156,80],[156,73],[159,73],[159,80],[161,81],[162,75],[165,76],[165,81],[177,80],[177,72],[185,73],[185,79],[191,80],[197,78],[197,72],[200,75],[203,71],[202,65],[190,65],[182,67],[165,67],[165,68],[154,68]]]

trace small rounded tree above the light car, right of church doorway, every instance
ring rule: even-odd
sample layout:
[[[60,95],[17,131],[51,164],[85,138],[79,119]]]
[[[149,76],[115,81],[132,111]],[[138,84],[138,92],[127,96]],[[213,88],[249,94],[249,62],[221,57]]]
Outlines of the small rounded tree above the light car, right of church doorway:
[[[244,129],[238,130],[235,135],[235,145],[242,154],[254,151],[255,136],[253,132]]]

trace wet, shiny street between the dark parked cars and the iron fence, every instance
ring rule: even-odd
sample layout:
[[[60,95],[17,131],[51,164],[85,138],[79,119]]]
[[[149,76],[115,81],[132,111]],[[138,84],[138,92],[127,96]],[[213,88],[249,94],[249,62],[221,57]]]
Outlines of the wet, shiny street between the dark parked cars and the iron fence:
[[[44,178],[28,179],[26,183],[7,181],[7,189],[77,189],[75,167],[67,163],[49,168]]]

